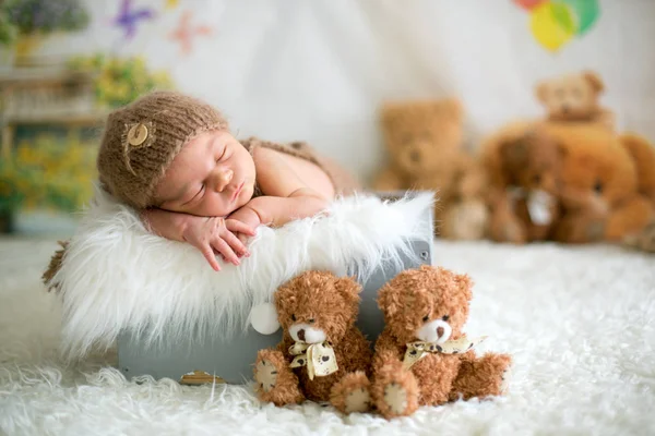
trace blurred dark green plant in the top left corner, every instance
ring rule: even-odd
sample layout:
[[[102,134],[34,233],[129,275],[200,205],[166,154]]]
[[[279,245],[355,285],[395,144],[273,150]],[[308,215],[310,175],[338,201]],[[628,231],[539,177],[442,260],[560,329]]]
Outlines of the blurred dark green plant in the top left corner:
[[[80,0],[4,0],[3,3],[9,22],[22,35],[81,31],[90,21]]]

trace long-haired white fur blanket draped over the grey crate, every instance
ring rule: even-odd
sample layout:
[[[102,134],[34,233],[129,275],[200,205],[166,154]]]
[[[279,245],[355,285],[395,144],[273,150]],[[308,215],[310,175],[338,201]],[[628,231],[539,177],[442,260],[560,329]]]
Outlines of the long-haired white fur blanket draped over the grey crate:
[[[382,201],[336,199],[327,214],[282,228],[260,227],[241,265],[214,271],[192,246],[155,237],[135,211],[96,192],[53,278],[63,304],[62,351],[83,356],[109,347],[122,329],[151,340],[188,337],[193,327],[230,335],[253,305],[307,269],[366,280],[382,262],[412,255],[409,242],[431,240],[431,193]]]

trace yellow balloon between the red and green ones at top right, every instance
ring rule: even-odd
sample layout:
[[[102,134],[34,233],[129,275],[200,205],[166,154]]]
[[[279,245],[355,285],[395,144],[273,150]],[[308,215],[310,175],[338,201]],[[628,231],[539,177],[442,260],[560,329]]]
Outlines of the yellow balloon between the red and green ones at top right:
[[[568,13],[568,10],[562,11],[557,7],[550,2],[539,4],[532,10],[529,19],[529,28],[535,39],[549,51],[557,51],[575,33],[573,26],[562,25],[561,20],[558,22],[556,13]]]

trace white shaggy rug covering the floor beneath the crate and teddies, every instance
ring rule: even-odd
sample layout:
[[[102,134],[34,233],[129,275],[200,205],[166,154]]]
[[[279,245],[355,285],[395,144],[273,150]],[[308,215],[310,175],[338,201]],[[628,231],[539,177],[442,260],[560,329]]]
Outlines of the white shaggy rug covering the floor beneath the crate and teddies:
[[[116,356],[66,366],[61,307],[38,275],[53,241],[0,241],[0,434],[655,434],[655,257],[608,246],[437,242],[476,282],[468,332],[510,352],[510,393],[386,422],[314,403],[275,408],[248,387],[126,379]]]

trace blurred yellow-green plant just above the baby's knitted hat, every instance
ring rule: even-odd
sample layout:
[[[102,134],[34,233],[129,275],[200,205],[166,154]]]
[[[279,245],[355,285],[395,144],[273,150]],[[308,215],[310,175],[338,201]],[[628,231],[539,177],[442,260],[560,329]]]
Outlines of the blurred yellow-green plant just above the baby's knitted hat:
[[[95,74],[96,101],[106,108],[124,106],[153,89],[172,87],[166,72],[151,72],[141,57],[76,57],[69,61],[69,66]]]

